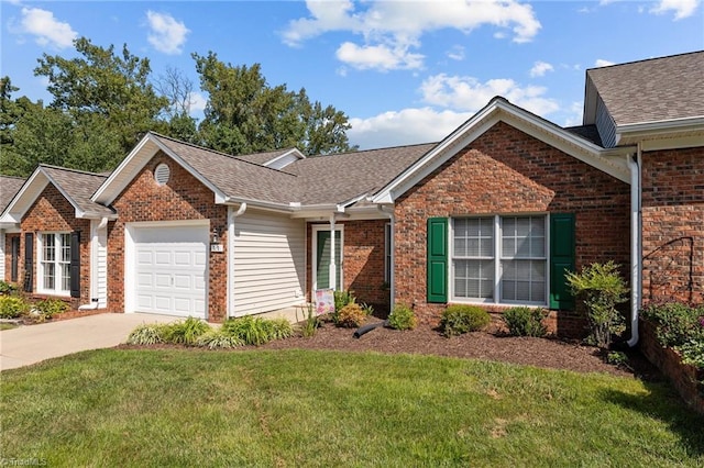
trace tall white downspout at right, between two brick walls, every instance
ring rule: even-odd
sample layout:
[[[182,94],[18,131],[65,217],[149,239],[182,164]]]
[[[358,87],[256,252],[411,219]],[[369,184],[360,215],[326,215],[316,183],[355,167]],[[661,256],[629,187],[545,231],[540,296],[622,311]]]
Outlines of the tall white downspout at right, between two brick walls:
[[[641,223],[640,223],[640,167],[641,146],[638,143],[636,155],[628,157],[630,168],[630,339],[628,346],[638,344],[638,317],[641,300]]]

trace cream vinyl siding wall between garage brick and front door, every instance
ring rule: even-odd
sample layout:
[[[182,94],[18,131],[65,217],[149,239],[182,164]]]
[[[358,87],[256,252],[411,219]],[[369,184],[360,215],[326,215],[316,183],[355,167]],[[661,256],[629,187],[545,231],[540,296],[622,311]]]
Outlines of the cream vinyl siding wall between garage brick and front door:
[[[248,211],[233,224],[232,314],[299,304],[305,289],[305,223]]]

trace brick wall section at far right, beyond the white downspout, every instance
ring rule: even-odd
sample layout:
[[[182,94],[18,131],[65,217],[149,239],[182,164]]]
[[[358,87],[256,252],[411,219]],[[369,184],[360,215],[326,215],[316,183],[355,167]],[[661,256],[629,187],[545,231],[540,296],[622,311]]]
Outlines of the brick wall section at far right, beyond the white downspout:
[[[704,148],[642,156],[644,301],[704,303]]]

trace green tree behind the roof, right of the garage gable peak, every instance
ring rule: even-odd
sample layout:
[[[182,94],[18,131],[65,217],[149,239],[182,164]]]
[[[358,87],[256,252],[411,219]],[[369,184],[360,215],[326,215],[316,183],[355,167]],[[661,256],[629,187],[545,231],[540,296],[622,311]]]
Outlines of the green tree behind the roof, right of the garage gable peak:
[[[261,65],[232,66],[212,52],[193,54],[200,88],[209,96],[199,131],[204,144],[229,154],[298,147],[307,155],[349,151],[344,113],[310,103],[305,89],[271,87]]]

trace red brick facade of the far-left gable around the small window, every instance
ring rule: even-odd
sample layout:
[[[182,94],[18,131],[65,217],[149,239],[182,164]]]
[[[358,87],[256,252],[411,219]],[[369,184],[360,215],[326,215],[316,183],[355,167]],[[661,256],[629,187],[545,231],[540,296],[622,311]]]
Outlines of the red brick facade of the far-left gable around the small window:
[[[37,252],[38,235],[45,232],[80,231],[80,298],[70,299],[72,309],[78,309],[81,304],[90,303],[90,220],[78,220],[75,215],[75,208],[64,198],[56,187],[50,183],[36,198],[34,204],[32,204],[20,222],[22,235],[20,237],[19,285],[22,286],[25,270],[24,234],[34,233],[34,268],[32,275],[34,297],[45,296],[36,292],[37,283],[42,280],[42,278],[37,276],[37,264],[40,260]]]

